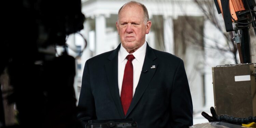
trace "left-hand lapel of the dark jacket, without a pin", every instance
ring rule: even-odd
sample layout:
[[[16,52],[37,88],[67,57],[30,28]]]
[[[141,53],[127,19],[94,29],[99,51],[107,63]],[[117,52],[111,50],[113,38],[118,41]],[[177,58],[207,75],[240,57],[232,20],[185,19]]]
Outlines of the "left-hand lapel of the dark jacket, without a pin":
[[[109,63],[105,64],[106,75],[108,77],[108,85],[110,88],[110,92],[112,98],[115,102],[117,111],[120,117],[124,118],[124,111],[120,100],[119,88],[118,88],[118,51],[120,48],[120,44],[118,47],[112,52],[112,54],[108,57],[110,60]]]

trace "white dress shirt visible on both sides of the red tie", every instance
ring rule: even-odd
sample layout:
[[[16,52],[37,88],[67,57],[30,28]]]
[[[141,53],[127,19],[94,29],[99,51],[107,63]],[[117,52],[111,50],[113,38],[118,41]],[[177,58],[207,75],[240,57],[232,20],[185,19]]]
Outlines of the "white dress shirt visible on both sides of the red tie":
[[[142,70],[142,66],[144,63],[145,55],[146,55],[146,41],[144,44],[137,49],[132,55],[135,57],[135,59],[132,60],[133,65],[133,93],[132,96],[134,96],[135,89],[139,83],[140,80],[140,73]],[[124,71],[125,71],[125,65],[127,62],[126,56],[129,55],[129,53],[126,51],[126,49],[122,46],[119,49],[118,52],[118,88],[119,88],[119,95],[121,95],[122,90],[122,83],[123,83],[123,77],[124,77]]]

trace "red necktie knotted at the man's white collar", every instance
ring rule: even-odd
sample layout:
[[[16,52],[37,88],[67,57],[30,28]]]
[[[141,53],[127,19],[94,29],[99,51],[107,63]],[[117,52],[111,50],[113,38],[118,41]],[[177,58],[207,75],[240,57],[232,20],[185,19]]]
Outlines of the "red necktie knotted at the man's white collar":
[[[121,96],[120,96],[125,115],[129,109],[129,106],[132,100],[133,66],[131,61],[134,58],[135,57],[132,54],[126,57],[128,61],[126,62],[126,65],[125,65],[125,72],[124,72],[123,84],[122,84],[122,90],[121,90]]]

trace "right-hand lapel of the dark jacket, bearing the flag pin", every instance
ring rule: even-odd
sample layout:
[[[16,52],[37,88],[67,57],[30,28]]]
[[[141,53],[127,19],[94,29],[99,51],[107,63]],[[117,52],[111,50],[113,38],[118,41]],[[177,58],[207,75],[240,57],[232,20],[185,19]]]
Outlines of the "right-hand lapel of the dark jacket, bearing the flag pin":
[[[148,46],[148,44],[147,44],[146,55],[145,55],[145,59],[144,59],[143,67],[142,67],[142,70],[143,71],[147,70],[147,72],[140,74],[139,83],[137,85],[137,88],[135,90],[134,96],[132,98],[130,107],[127,111],[125,118],[130,114],[132,109],[136,106],[136,104],[142,97],[144,91],[146,90],[148,84],[150,83],[150,81],[157,69],[157,63],[154,62],[155,59],[156,59],[156,56],[153,52],[153,49],[150,46]],[[153,67],[155,67],[155,68],[153,68]]]

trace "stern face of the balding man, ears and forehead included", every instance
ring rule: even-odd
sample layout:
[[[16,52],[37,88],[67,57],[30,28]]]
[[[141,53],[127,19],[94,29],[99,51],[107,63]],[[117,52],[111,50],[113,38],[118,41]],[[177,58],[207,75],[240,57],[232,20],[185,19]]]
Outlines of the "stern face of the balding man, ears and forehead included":
[[[151,22],[144,21],[144,12],[138,4],[125,5],[119,13],[116,28],[123,47],[129,53],[135,52],[145,42]]]

